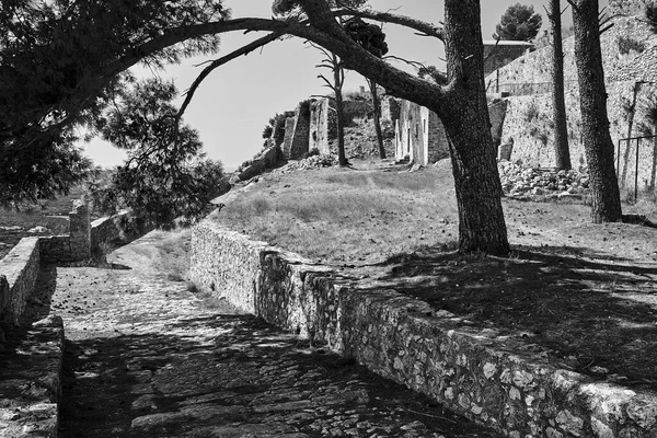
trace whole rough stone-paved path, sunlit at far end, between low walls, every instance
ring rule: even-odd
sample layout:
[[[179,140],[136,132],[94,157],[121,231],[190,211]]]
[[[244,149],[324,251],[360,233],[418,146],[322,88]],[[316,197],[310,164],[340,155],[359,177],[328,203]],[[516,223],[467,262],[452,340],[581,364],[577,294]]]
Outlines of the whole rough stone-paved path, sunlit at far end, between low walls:
[[[67,336],[62,438],[495,436],[201,296],[176,272],[188,241],[166,235],[116,251],[114,269],[43,269]]]

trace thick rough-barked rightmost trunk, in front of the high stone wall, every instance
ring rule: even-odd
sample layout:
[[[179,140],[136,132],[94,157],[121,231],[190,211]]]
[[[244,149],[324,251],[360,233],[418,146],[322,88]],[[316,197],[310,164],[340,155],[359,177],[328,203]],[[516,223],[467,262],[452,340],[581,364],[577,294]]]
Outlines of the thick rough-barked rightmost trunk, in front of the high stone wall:
[[[598,0],[579,0],[575,4],[575,61],[579,82],[581,137],[591,186],[591,218],[596,223],[615,222],[622,218],[621,196],[607,116]]]

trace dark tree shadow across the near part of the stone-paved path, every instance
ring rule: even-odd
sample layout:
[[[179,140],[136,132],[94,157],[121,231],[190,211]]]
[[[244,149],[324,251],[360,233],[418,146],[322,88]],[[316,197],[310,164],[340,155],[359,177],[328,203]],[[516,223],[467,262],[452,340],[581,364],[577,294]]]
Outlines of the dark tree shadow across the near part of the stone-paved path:
[[[453,437],[496,436],[250,315],[185,319],[169,328],[67,341],[62,438],[315,436],[313,424],[354,413],[389,427],[385,436],[415,420]],[[203,339],[185,335],[209,330]]]

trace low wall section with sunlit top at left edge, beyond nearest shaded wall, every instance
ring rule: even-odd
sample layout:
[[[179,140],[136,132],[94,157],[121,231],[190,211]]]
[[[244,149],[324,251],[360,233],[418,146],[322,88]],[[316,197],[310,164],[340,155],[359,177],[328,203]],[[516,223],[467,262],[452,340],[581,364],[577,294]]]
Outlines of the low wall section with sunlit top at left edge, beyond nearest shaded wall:
[[[34,290],[39,269],[39,238],[21,239],[0,260],[0,316],[18,324]]]

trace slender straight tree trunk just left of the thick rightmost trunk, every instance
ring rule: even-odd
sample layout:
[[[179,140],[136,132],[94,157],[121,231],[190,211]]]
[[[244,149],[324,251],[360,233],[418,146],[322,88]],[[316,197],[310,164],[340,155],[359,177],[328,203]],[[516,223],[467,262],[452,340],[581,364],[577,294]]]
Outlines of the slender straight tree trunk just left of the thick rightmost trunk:
[[[561,33],[561,2],[550,0],[550,23],[552,24],[552,114],[554,118],[554,157],[558,170],[569,170],[570,150],[566,125],[566,103],[564,99],[564,51]]]

